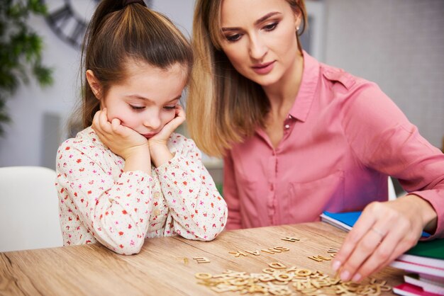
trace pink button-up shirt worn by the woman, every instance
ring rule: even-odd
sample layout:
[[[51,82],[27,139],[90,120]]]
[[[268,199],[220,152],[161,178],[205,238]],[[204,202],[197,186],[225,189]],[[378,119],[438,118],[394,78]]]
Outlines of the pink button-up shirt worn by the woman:
[[[318,220],[387,200],[387,176],[438,212],[444,234],[444,154],[364,79],[304,52],[299,93],[276,149],[262,129],[224,158],[227,229]]]

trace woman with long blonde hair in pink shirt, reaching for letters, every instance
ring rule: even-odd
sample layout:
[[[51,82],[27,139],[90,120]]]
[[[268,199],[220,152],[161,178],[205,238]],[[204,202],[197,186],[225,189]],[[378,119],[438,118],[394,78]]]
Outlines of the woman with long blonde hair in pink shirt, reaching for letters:
[[[378,86],[304,52],[305,23],[304,0],[198,0],[189,131],[224,156],[227,229],[364,209],[333,261],[359,281],[444,236],[444,155]],[[388,202],[387,176],[409,194]]]

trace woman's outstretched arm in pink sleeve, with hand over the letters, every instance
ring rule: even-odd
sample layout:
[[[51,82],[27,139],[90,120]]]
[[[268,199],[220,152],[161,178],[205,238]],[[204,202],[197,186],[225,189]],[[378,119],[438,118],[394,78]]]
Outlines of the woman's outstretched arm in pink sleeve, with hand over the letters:
[[[444,155],[374,84],[353,90],[343,127],[363,165],[398,178],[409,192],[367,205],[335,256],[333,269],[342,280],[360,280],[414,246],[423,229],[443,237]]]

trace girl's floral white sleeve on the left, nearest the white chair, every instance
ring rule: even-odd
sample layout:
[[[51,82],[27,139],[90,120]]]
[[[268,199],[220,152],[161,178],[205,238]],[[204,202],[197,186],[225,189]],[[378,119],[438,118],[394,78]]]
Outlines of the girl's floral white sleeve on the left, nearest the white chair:
[[[143,171],[116,172],[101,166],[104,150],[63,143],[57,152],[57,189],[61,203],[87,232],[118,254],[137,254],[152,210],[152,178]],[[62,228],[64,220],[61,219]]]

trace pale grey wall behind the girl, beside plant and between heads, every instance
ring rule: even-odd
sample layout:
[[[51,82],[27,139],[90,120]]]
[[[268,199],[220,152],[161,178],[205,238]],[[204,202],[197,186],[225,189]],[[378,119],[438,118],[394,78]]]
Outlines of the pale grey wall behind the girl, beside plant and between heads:
[[[165,13],[189,35],[194,0],[153,0],[152,8]],[[31,17],[29,24],[44,38],[43,62],[54,69],[54,84],[48,89],[40,89],[32,81],[30,85],[21,87],[8,101],[7,107],[13,122],[6,125],[6,133],[0,137],[0,166],[48,166],[43,159],[43,149],[48,149],[45,143],[61,142],[65,131],[61,130],[60,135],[45,134],[42,128],[43,114],[60,114],[62,121],[65,121],[79,98],[79,50],[57,38],[42,17]],[[55,138],[58,140],[53,141]],[[57,151],[57,147],[49,149]]]

